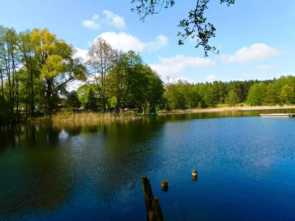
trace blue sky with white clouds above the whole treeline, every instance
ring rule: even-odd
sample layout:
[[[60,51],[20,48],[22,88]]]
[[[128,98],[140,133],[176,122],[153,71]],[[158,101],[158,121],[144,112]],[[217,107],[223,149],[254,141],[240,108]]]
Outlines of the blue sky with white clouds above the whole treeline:
[[[131,12],[130,0],[6,0],[0,24],[17,31],[49,28],[79,55],[102,36],[114,48],[139,51],[163,79],[169,75],[196,83],[295,74],[295,1],[236,0],[230,7],[218,1],[211,0],[206,16],[217,29],[210,44],[220,53],[207,58],[190,39],[177,45],[177,24],[196,0],[176,0],[144,23]]]

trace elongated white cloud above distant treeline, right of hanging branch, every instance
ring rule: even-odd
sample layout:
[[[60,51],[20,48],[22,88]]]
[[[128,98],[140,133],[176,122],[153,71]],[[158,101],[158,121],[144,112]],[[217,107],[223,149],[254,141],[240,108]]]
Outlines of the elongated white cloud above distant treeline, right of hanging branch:
[[[228,63],[238,62],[246,63],[249,61],[261,61],[269,57],[275,57],[282,52],[267,46],[262,43],[252,44],[249,48],[243,47],[236,51],[234,55],[219,55],[216,56],[220,60]]]

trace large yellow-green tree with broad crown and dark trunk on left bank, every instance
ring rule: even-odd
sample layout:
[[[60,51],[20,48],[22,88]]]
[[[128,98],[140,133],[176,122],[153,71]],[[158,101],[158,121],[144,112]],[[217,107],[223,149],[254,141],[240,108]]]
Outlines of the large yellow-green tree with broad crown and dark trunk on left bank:
[[[39,66],[38,79],[46,93],[46,112],[52,115],[55,105],[53,98],[65,84],[86,80],[86,69],[79,58],[74,58],[74,48],[48,29],[34,28],[30,37],[32,52]]]

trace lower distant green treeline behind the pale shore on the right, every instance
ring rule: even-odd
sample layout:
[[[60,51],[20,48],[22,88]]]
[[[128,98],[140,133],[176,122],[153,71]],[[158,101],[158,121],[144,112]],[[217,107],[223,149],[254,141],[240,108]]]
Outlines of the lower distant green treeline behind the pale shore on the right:
[[[185,81],[166,83],[161,108],[213,108],[217,104],[230,107],[295,104],[295,77],[282,76],[273,80],[248,80],[191,84]]]

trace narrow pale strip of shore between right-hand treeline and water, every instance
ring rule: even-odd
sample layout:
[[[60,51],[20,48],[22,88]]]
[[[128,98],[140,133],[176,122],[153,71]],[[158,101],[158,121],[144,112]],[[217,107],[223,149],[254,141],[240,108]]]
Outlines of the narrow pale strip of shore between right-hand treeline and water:
[[[222,111],[251,111],[251,110],[271,110],[271,109],[295,109],[295,105],[284,105],[284,106],[255,106],[255,107],[225,107],[225,108],[207,108],[207,109],[190,109],[190,110],[170,110],[170,111],[159,111],[158,114],[167,113],[201,113],[201,112],[222,112]]]

